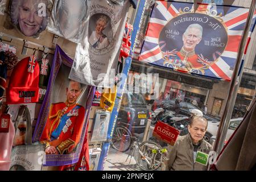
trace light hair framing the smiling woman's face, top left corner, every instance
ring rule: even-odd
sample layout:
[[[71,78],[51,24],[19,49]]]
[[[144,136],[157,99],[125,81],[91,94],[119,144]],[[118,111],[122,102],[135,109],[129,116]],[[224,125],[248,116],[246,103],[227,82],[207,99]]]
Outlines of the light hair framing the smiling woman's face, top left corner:
[[[27,0],[13,0],[11,2],[11,8],[10,8],[10,16],[11,16],[11,23],[13,23],[15,26],[19,28],[19,7],[22,5],[22,3]],[[42,25],[40,26],[40,29],[37,33],[40,33],[44,30],[46,30],[48,20],[49,20],[49,1],[48,0],[41,0],[42,2],[46,2],[46,16],[43,17]],[[20,30],[20,28],[19,28]]]

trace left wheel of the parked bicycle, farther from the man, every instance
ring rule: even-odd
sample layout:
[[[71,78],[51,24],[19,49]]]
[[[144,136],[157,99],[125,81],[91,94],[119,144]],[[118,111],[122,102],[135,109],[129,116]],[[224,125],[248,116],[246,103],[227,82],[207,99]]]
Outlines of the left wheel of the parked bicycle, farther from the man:
[[[111,144],[115,150],[126,152],[131,145],[131,132],[126,127],[115,127]]]

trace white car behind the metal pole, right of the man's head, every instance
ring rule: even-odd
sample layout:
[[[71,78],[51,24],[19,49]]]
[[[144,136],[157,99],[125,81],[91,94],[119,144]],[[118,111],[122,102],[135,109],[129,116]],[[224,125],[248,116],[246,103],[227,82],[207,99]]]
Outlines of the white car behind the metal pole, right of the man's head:
[[[236,118],[236,119],[230,119],[228,132],[226,133],[225,140],[228,141],[231,135],[234,133],[234,131],[237,129],[237,127],[242,122],[243,118]],[[207,127],[207,133],[205,134],[205,140],[213,144],[214,138],[216,138],[218,126],[220,125],[220,122],[208,122]]]

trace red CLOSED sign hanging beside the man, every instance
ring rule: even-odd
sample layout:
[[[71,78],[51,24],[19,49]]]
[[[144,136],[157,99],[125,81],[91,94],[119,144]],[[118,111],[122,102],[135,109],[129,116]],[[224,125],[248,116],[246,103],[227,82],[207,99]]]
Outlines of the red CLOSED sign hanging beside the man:
[[[158,121],[155,125],[155,129],[153,132],[153,136],[163,140],[163,142],[166,142],[170,144],[171,146],[174,146],[177,136],[180,134],[179,130],[175,129],[174,127],[171,127],[170,125],[167,125],[166,123]]]

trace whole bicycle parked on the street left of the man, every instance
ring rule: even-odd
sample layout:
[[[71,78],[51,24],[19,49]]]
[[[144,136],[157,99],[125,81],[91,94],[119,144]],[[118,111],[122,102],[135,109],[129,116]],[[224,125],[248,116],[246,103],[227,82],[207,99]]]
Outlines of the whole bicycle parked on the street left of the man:
[[[166,159],[167,147],[161,147],[158,143],[153,141],[146,141],[139,144],[138,138],[133,137],[131,132],[123,126],[115,128],[112,147],[115,150],[126,152],[130,149],[130,153],[127,156],[133,156],[136,163],[142,170],[153,171],[158,169]],[[131,159],[130,159],[131,162]]]

